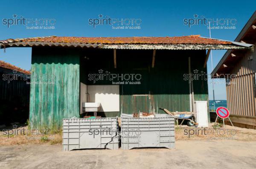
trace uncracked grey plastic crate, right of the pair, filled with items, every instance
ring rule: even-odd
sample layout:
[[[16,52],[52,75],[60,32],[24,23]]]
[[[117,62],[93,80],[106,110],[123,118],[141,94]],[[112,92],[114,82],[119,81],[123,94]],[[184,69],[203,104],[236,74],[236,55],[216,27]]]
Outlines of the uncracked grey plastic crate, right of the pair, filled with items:
[[[134,118],[122,114],[121,148],[141,147],[175,148],[174,117],[156,114],[154,118]]]

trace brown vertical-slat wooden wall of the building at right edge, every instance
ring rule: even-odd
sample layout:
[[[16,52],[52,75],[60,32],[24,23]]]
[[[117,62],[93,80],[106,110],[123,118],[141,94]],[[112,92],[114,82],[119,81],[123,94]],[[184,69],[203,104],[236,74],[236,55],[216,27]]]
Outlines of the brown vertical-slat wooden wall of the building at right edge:
[[[227,87],[227,107],[231,114],[256,116],[256,48],[244,54],[237,54],[239,62],[232,69],[230,74],[236,74],[234,84]],[[253,59],[248,59],[252,56]]]

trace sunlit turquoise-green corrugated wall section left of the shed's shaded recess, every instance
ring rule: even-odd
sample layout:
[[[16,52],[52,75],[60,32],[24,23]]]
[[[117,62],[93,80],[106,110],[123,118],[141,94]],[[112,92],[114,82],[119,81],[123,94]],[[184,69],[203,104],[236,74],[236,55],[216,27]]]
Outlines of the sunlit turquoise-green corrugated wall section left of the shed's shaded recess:
[[[55,84],[30,88],[29,121],[32,128],[58,128],[62,118],[79,117],[79,54],[59,48],[32,48],[32,77],[55,75]],[[43,80],[49,82],[50,80]]]

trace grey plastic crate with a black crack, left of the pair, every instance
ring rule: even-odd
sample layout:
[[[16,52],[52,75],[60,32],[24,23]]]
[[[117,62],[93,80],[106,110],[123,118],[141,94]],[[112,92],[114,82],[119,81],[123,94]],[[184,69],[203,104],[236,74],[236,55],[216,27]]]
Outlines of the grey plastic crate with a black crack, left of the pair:
[[[64,118],[63,150],[119,149],[116,118]]]

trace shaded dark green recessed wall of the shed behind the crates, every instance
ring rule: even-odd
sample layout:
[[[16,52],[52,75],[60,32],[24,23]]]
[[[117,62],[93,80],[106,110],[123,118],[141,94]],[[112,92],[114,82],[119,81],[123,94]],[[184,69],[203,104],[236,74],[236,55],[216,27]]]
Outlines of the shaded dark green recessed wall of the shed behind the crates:
[[[89,60],[84,66],[88,73],[99,73],[102,69],[111,73],[140,73],[141,85],[120,85],[120,111],[136,113],[138,111],[164,113],[160,107],[170,111],[189,111],[189,83],[183,79],[183,74],[189,73],[188,57],[191,57],[191,71],[207,72],[203,68],[206,57],[205,50],[156,52],[155,65],[152,64],[152,50],[117,50],[117,68],[113,65],[113,50],[86,50],[84,55]],[[101,62],[99,62],[101,61]],[[93,85],[92,82],[86,82]],[[110,81],[98,81],[95,85],[110,85]],[[208,101],[207,81],[194,81],[195,100]],[[108,116],[108,113],[105,113]],[[120,113],[118,114],[120,115]]]

